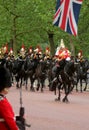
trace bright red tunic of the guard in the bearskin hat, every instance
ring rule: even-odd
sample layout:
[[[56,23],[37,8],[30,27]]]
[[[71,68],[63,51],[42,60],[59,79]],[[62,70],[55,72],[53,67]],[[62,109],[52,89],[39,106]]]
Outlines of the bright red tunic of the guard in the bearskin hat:
[[[1,120],[4,121],[1,121]],[[18,130],[12,106],[6,97],[0,96],[0,130]]]

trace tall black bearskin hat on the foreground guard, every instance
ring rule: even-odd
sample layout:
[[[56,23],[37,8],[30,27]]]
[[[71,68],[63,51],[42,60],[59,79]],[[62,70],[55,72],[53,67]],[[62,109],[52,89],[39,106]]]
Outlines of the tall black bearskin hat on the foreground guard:
[[[0,67],[0,91],[11,87],[10,72],[5,67]]]

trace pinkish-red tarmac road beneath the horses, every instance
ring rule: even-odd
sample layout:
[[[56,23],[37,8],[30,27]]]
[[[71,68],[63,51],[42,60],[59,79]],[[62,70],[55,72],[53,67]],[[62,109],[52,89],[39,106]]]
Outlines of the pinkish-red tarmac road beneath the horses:
[[[64,96],[62,92],[62,98]],[[89,92],[75,92],[69,95],[70,103],[56,102],[53,92],[22,89],[25,118],[31,124],[26,130],[89,130]],[[16,115],[20,108],[20,90],[12,87],[7,98]]]

